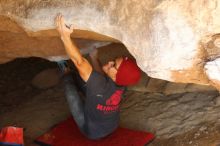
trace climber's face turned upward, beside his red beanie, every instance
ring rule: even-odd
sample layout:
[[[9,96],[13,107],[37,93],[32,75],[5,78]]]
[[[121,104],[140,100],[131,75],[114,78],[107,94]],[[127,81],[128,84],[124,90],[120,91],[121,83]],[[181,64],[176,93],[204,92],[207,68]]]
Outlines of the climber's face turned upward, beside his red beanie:
[[[122,57],[118,57],[113,61],[109,61],[107,64],[103,65],[103,71],[113,80],[116,80],[116,74],[119,66],[123,61]]]

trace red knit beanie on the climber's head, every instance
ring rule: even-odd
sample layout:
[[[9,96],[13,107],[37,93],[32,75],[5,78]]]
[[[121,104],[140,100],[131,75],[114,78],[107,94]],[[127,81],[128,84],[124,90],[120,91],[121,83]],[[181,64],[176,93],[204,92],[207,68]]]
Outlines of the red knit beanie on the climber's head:
[[[124,57],[116,74],[116,84],[121,86],[134,85],[141,78],[141,70],[136,62]]]

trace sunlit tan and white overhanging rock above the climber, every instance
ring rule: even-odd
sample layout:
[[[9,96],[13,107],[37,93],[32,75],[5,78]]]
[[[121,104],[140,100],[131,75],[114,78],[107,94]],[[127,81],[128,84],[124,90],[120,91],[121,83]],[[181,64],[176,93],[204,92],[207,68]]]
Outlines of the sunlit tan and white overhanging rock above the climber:
[[[73,37],[122,42],[151,77],[220,89],[219,0],[1,0],[0,20],[12,23],[0,24],[0,61],[64,55],[54,30],[58,12],[75,25]],[[30,46],[18,50],[26,39]]]

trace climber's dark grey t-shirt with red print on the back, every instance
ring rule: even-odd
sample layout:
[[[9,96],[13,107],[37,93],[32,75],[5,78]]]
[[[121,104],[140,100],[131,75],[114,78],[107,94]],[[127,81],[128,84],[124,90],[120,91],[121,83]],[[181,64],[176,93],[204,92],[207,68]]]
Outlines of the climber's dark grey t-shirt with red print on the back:
[[[124,92],[111,78],[92,71],[88,81],[85,101],[85,118],[88,133],[103,137],[118,127],[119,104]]]

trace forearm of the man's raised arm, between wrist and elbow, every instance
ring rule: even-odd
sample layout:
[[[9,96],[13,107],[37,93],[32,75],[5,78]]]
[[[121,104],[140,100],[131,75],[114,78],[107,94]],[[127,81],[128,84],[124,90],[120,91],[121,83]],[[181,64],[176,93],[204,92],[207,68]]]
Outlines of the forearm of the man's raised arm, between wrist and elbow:
[[[70,59],[77,65],[81,64],[83,62],[83,57],[74,41],[72,41],[70,37],[62,38],[62,41]]]

